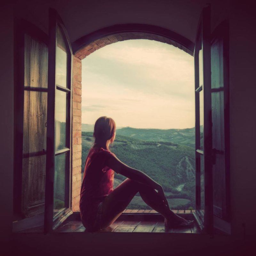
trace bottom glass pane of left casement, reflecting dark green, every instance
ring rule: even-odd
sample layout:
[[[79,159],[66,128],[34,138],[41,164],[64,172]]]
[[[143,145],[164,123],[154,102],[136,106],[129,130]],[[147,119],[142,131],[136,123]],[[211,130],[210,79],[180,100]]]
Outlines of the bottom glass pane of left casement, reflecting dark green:
[[[65,208],[66,156],[55,156],[53,215]]]

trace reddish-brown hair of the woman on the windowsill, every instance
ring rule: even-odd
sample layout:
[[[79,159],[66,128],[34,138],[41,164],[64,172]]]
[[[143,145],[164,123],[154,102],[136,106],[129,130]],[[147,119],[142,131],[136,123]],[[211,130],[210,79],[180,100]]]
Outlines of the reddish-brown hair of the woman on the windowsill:
[[[94,124],[94,143],[92,145],[92,148],[106,143],[107,140],[110,140],[110,143],[112,143],[115,131],[115,121],[111,117],[100,116]],[[109,150],[109,148],[107,149]]]

